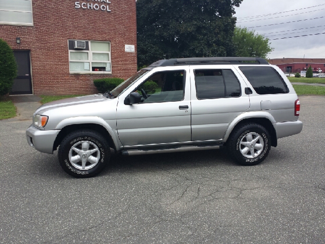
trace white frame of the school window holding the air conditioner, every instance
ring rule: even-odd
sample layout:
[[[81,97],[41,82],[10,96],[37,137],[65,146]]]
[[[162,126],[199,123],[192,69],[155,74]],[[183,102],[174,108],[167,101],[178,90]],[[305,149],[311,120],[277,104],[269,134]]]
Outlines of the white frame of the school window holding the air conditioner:
[[[68,46],[69,46],[68,40]],[[80,40],[80,41],[86,41],[89,45],[89,50],[69,50],[69,72],[70,74],[112,74],[112,59],[111,59],[111,42],[105,42],[105,41],[95,41],[95,40]],[[105,42],[109,43],[110,45],[110,51],[91,51],[91,42]],[[88,60],[71,60],[71,53],[72,52],[87,52],[88,53]],[[109,61],[101,61],[101,60],[92,60],[92,53],[108,53],[109,54]],[[79,63],[89,63],[89,71],[71,71],[70,70],[70,63],[72,62],[79,62]],[[109,63],[111,66],[111,71],[92,71],[92,63]]]

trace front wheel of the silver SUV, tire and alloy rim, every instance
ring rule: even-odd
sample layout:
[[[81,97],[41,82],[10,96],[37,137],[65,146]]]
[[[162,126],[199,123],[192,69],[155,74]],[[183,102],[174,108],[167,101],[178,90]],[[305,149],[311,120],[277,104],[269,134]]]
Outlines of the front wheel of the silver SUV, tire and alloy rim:
[[[96,131],[86,129],[67,135],[58,149],[58,159],[63,170],[78,178],[99,174],[109,161],[110,154],[105,138]]]

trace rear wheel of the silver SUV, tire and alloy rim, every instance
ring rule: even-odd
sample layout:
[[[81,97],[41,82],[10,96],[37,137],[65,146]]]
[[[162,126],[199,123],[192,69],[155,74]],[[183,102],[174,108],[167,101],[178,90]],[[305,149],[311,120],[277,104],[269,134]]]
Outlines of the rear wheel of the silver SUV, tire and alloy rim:
[[[254,123],[241,125],[231,133],[227,147],[231,157],[239,164],[253,166],[268,156],[271,137],[261,125]]]

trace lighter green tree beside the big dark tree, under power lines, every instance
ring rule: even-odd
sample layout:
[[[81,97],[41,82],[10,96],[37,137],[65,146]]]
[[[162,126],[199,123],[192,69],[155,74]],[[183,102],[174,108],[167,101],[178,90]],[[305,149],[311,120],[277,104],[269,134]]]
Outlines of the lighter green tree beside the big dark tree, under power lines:
[[[263,35],[248,31],[247,28],[236,27],[234,32],[235,56],[266,58],[274,48],[269,39]]]

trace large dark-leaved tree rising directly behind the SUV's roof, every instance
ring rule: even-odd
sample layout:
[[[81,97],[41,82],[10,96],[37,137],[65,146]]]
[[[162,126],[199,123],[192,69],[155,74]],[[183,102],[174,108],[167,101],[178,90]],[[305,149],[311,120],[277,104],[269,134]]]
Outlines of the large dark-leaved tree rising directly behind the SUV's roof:
[[[242,0],[138,0],[138,66],[175,57],[233,56]]]

